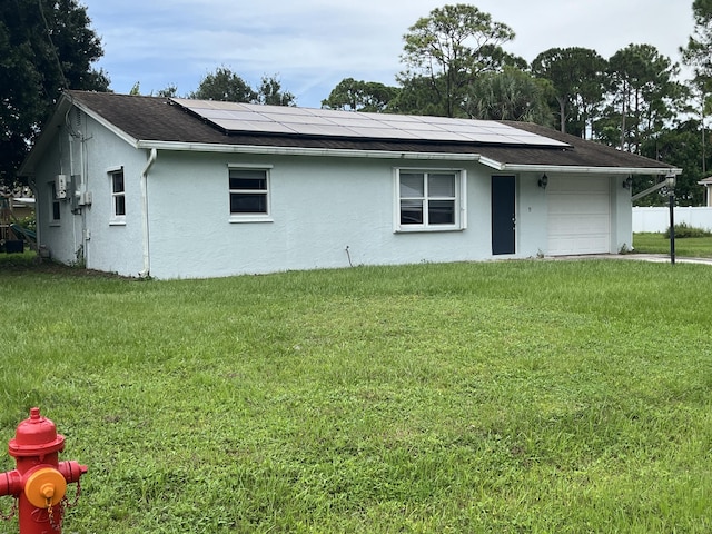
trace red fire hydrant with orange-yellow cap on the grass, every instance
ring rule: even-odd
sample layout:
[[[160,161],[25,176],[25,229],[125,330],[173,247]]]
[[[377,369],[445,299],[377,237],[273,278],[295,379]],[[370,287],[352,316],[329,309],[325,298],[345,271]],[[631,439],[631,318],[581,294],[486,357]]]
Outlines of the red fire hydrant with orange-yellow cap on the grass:
[[[67,484],[77,483],[79,497],[79,477],[87,466],[59,462],[65,436],[40,415],[40,408],[31,408],[30,417],[18,425],[8,449],[17,468],[0,473],[0,496],[17,498],[13,511],[19,511],[20,534],[61,533]]]

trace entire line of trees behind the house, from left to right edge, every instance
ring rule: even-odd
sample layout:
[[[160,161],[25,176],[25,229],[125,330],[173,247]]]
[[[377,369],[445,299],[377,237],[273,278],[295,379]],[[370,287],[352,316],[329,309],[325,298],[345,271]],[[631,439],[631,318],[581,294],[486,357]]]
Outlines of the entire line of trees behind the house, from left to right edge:
[[[652,44],[631,43],[610,58],[571,47],[530,63],[506,50],[515,32],[473,4],[448,4],[403,36],[403,70],[387,86],[346,78],[322,101],[328,109],[524,120],[684,169],[675,194],[700,205],[706,176],[705,119],[712,107],[712,3],[693,0],[694,29],[681,47],[693,78]],[[14,0],[0,4],[0,181],[16,172],[65,88],[109,91],[93,63],[101,43],[77,0]],[[140,93],[137,82],[132,93]],[[178,96],[169,86],[157,96]],[[295,106],[278,77],[251,87],[228,67],[208,73],[187,98]],[[634,190],[655,178],[637,177]],[[646,204],[663,199],[649,196]]]

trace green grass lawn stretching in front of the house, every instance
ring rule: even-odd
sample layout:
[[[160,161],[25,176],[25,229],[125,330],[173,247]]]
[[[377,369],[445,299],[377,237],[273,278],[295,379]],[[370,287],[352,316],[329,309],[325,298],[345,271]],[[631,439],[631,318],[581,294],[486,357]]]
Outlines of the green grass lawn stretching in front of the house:
[[[89,466],[63,532],[712,528],[709,266],[26,261],[0,263],[0,436],[40,406]]]

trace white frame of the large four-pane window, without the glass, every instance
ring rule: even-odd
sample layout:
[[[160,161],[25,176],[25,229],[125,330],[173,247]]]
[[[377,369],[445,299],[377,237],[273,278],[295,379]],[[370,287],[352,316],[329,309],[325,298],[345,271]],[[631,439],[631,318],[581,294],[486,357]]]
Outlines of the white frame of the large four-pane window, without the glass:
[[[400,175],[423,175],[423,195],[422,196],[402,196]],[[453,175],[454,176],[454,195],[431,195],[428,177],[431,175]],[[395,233],[421,233],[421,231],[459,231],[467,228],[466,217],[466,184],[467,171],[462,168],[423,168],[423,167],[396,167],[394,168],[394,231]],[[402,209],[404,200],[422,200],[423,201],[423,222],[422,224],[404,224],[402,221]],[[428,220],[428,207],[433,201],[453,201],[454,202],[454,221],[453,224],[436,224]]]

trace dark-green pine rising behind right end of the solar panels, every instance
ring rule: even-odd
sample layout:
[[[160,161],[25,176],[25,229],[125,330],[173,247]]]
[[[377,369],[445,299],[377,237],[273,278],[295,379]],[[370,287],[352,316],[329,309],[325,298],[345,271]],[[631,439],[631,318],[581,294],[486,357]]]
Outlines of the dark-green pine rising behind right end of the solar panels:
[[[605,59],[587,48],[551,48],[534,58],[531,69],[552,82],[561,131],[585,139],[603,102]]]

